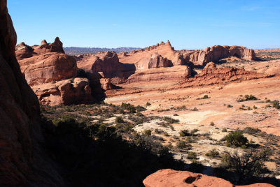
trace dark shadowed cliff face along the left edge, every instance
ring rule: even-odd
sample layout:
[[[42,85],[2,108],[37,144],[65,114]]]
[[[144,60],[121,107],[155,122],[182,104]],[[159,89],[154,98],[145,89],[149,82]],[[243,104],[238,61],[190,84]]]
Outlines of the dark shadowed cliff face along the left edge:
[[[0,186],[66,186],[41,148],[38,99],[15,58],[17,35],[0,2]]]

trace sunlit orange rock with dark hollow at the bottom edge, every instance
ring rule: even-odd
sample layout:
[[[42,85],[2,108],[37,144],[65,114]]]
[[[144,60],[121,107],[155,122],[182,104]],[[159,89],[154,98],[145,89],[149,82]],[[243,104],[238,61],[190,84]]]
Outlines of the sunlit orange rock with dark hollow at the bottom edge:
[[[144,181],[146,187],[235,187],[229,181],[206,174],[187,171],[159,170],[149,175]],[[247,187],[273,187],[271,184],[251,184]],[[238,186],[237,186],[238,187]]]

